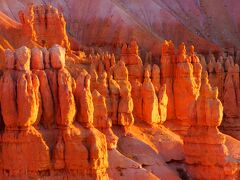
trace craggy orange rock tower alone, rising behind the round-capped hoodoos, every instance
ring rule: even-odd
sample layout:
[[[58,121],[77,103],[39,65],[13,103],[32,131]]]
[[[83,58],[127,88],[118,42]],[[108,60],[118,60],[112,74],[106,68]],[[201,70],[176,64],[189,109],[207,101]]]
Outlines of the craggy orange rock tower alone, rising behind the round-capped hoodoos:
[[[27,11],[19,12],[19,17],[26,29],[25,33],[32,35],[32,39],[42,46],[51,47],[57,43],[70,49],[66,21],[56,8],[49,5],[29,5]]]

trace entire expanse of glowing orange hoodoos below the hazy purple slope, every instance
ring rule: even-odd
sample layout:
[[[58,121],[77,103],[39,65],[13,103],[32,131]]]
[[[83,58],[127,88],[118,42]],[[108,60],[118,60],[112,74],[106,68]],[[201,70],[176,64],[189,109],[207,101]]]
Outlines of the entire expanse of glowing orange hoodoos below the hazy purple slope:
[[[164,41],[157,62],[147,40],[116,37],[80,52],[53,6],[19,20],[0,14],[0,179],[239,178],[240,142],[218,129],[240,138],[232,50],[205,59]],[[107,44],[107,28],[96,34]]]

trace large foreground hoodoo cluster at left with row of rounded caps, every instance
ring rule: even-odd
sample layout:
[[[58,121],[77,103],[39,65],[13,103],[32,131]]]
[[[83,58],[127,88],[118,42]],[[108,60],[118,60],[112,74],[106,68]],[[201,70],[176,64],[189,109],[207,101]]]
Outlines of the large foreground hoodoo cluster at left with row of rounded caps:
[[[65,69],[64,51],[58,45],[50,53],[26,47],[6,51],[7,69],[0,83],[5,125],[0,153],[3,178],[54,178],[65,176],[63,172],[68,171],[69,178],[77,175],[108,179],[106,138],[92,126],[90,76],[85,78],[80,92],[81,107],[85,109],[80,112],[83,120],[73,125],[77,113],[74,95],[79,91],[75,92],[75,80]],[[49,60],[47,54],[51,63],[46,68],[43,62]],[[87,129],[81,126],[85,122]],[[56,132],[55,143],[49,144],[42,128],[50,134]]]

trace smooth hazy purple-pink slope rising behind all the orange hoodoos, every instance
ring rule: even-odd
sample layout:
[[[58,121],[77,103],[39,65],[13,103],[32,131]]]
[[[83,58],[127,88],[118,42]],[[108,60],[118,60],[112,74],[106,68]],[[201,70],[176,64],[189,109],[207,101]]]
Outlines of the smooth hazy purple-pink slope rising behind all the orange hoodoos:
[[[184,41],[206,51],[239,46],[237,0],[1,0],[0,10],[19,22],[18,11],[31,2],[60,9],[68,32],[84,45],[116,45],[137,38],[144,50],[154,53],[164,39],[176,44]]]

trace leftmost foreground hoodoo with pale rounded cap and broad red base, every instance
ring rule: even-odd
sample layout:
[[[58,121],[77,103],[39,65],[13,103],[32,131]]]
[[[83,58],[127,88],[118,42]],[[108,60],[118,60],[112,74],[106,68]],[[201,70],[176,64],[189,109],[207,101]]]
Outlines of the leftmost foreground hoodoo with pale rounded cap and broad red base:
[[[40,93],[39,80],[30,71],[30,52],[27,47],[21,47],[15,51],[14,61],[12,56],[7,56],[8,69],[1,77],[5,129],[0,158],[6,177],[37,176],[50,169],[49,147],[33,127],[38,119]]]

